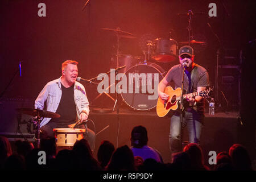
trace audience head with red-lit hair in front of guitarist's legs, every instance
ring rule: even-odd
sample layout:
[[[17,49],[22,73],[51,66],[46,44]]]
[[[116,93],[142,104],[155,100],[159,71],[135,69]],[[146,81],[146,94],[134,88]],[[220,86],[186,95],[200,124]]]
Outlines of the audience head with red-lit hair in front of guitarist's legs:
[[[183,148],[183,152],[189,154],[192,170],[209,170],[209,168],[204,165],[203,151],[199,144],[189,143]]]

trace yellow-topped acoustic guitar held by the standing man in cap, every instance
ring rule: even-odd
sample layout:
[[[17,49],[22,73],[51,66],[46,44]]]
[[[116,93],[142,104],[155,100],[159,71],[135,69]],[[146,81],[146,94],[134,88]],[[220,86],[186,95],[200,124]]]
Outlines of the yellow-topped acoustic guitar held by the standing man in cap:
[[[212,88],[201,90],[200,92],[183,94],[182,98],[187,98],[188,95],[191,95],[192,97],[209,97],[210,92],[212,92]],[[164,89],[164,93],[168,94],[169,98],[168,100],[162,100],[162,98],[158,97],[158,102],[156,104],[156,114],[158,114],[159,117],[164,117],[169,112],[172,114],[175,110],[178,109],[178,103],[181,98],[181,88],[174,90],[171,86],[167,86],[166,89]]]

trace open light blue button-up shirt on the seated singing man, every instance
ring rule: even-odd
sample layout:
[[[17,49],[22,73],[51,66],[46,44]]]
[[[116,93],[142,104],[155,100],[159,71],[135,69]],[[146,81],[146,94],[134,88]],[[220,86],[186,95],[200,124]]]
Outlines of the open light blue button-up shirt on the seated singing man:
[[[60,78],[50,81],[44,86],[35,101],[35,109],[44,109],[44,102],[46,102],[46,110],[53,113],[56,112],[61,99],[61,82]],[[85,88],[80,82],[75,82],[74,85],[74,100],[76,104],[77,118],[80,119],[80,113],[85,111],[89,115],[89,101],[86,97]],[[44,118],[40,126],[46,125],[51,118]]]

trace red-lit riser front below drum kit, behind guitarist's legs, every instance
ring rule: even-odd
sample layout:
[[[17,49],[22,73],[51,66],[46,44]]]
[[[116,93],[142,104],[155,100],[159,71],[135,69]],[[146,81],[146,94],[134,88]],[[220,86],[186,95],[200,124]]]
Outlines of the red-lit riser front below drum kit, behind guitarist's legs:
[[[109,140],[115,147],[127,145],[130,147],[130,136],[133,127],[142,125],[148,132],[148,146],[156,148],[163,157],[164,163],[171,160],[168,144],[170,131],[170,118],[159,118],[155,108],[150,111],[139,111],[120,107],[112,113],[99,113],[101,109],[91,108],[89,119],[96,126],[96,148],[94,156],[97,157],[98,147],[102,140]],[[95,112],[97,111],[97,112]],[[228,151],[233,143],[237,142],[237,127],[241,125],[238,121],[239,113],[217,112],[214,115],[205,113],[205,121],[201,134],[201,146],[203,148],[205,162],[208,162],[209,151]],[[118,121],[119,117],[119,121]],[[93,129],[92,123],[88,127]],[[101,131],[107,127],[105,130]],[[98,133],[101,131],[100,133]],[[183,138],[188,140],[187,130],[184,130]]]

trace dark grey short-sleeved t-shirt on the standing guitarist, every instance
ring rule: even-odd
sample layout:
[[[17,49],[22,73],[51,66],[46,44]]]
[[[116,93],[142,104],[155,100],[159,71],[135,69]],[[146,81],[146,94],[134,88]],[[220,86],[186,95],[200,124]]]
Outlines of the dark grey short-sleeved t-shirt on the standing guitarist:
[[[174,82],[175,88],[181,88],[182,81],[182,72],[183,69],[180,64],[172,67],[167,75],[165,76],[166,80],[170,82]],[[184,74],[184,94],[197,92],[197,87],[207,87],[210,85],[209,75],[205,68],[201,67],[198,64],[195,64],[195,67],[190,72],[185,72]],[[190,89],[189,89],[190,88]],[[188,102],[184,102],[184,107],[188,107]],[[198,112],[204,112],[205,100],[204,98],[198,102],[196,105],[193,105],[192,108]]]

